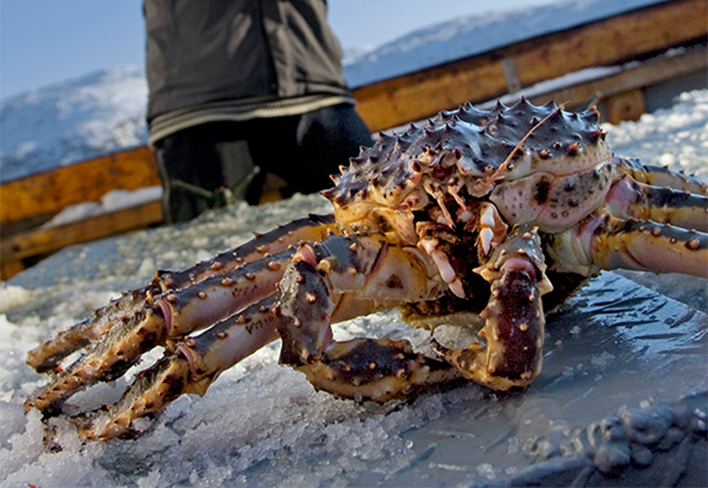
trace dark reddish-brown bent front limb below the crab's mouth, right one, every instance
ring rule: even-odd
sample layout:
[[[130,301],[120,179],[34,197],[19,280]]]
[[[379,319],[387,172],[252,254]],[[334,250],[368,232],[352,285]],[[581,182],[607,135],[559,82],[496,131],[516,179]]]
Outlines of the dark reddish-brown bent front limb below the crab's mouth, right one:
[[[543,249],[535,230],[516,227],[489,262],[475,270],[491,284],[481,316],[480,336],[487,344],[449,349],[434,342],[443,359],[464,377],[495,390],[526,386],[541,372],[543,305],[552,288],[545,276]]]

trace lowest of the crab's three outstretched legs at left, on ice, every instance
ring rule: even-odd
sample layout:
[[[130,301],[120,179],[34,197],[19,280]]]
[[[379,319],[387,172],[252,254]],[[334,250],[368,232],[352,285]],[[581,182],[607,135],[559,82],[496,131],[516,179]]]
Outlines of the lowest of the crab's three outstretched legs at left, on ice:
[[[157,416],[184,393],[203,395],[221,372],[279,338],[273,305],[259,301],[196,337],[171,344],[165,356],[135,376],[114,405],[73,417],[81,438],[107,440],[144,433],[139,419]]]

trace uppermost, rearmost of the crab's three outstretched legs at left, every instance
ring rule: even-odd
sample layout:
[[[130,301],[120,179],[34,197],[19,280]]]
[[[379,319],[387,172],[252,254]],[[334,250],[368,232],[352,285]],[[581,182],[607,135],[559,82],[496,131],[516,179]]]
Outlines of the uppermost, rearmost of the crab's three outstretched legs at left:
[[[150,285],[123,294],[103,309],[97,309],[94,316],[88,320],[44,341],[27,354],[27,364],[40,373],[54,370],[67,355],[102,337],[122,317],[130,316],[141,309],[151,297],[189,286],[204,278],[234,271],[244,263],[256,261],[266,253],[279,253],[299,241],[322,240],[329,230],[334,230],[332,215],[310,215],[282,225],[272,232],[257,235],[242,246],[216,255],[211,260],[197,263],[185,271],[158,271]]]

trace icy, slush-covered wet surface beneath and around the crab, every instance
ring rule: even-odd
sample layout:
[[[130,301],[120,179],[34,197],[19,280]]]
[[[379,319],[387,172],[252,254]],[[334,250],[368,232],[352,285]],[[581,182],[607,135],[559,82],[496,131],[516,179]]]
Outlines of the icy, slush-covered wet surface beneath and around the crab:
[[[671,111],[604,128],[618,154],[706,180],[707,126],[704,90],[681,95]],[[410,402],[358,405],[315,393],[301,374],[279,367],[274,344],[219,377],[203,398],[176,400],[147,437],[81,446],[72,427],[60,424],[63,450],[45,451],[38,414],[25,416],[22,408],[43,381],[25,365],[27,350],[119,291],[142,286],[158,269],[185,267],[249,239],[251,231],[327,210],[318,195],[236,205],[189,225],[66,248],[5,283],[0,484],[489,484],[571,454],[564,439],[573,428],[622,406],[646,408],[658,398],[706,389],[705,281],[652,276],[650,289],[636,283],[643,278],[635,273],[603,273],[550,317],[543,373],[522,394],[462,385]],[[364,334],[427,344],[425,332],[393,313],[353,320],[335,332],[338,339]],[[114,400],[125,386],[121,379],[72,401]]]

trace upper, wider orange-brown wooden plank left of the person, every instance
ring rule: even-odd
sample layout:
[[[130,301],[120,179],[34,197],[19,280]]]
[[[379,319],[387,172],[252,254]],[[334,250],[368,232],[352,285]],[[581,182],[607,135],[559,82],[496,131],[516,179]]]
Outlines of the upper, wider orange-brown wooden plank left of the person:
[[[115,189],[159,185],[152,151],[142,146],[64,166],[0,187],[0,222],[56,213],[68,205],[95,202]]]

